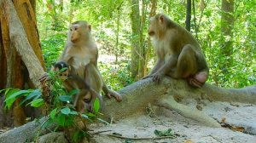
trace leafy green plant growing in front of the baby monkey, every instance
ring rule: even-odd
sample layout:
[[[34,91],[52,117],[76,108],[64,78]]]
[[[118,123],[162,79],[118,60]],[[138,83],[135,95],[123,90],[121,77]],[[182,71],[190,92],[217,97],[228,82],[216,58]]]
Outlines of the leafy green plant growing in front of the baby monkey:
[[[65,70],[65,69],[62,69]],[[61,71],[60,71],[61,72]],[[97,117],[100,112],[100,100],[96,99],[94,102],[94,112],[77,112],[73,107],[73,94],[77,94],[79,90],[74,89],[71,92],[67,93],[66,90],[62,87],[62,81],[56,75],[56,72],[49,72],[49,83],[51,85],[53,98],[53,105],[49,106],[49,115],[47,116],[47,122],[42,125],[42,128],[47,128],[53,124],[57,125],[55,129],[73,129],[73,138],[74,142],[78,142],[79,139],[84,136],[88,136],[86,128],[81,128],[76,123],[78,120],[84,120],[87,122],[93,122],[99,120],[103,123],[107,123],[101,118]],[[25,104],[26,106],[40,107],[44,106],[45,102],[42,96],[41,89],[3,89],[0,90],[0,93],[4,93],[6,96],[6,107],[10,109],[15,100],[20,97],[23,97],[20,102],[20,105]],[[75,125],[75,127],[73,127]],[[86,126],[85,126],[86,127]]]

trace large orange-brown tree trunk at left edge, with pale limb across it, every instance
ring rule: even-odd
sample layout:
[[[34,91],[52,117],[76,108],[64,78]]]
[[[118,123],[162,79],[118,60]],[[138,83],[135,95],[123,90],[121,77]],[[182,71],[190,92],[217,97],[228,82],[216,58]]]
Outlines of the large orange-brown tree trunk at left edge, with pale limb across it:
[[[28,89],[34,85],[39,87],[38,78],[43,75],[45,67],[32,5],[29,0],[0,2],[0,51],[3,51],[0,57],[4,58],[1,62],[5,62],[1,66],[7,69],[6,74],[1,72],[4,75],[1,77],[1,89]],[[26,119],[23,107],[18,106],[20,100],[15,101],[12,112],[15,126],[24,124]]]

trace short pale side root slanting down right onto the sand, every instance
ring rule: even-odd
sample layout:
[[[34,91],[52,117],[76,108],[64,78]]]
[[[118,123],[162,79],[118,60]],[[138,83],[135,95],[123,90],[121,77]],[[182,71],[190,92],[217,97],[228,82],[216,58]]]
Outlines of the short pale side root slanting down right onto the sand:
[[[212,117],[207,116],[203,112],[191,109],[189,106],[177,103],[177,101],[174,100],[173,96],[170,94],[165,94],[160,99],[160,106],[164,106],[170,110],[175,110],[184,117],[190,117],[196,121],[206,124],[207,126],[216,128],[221,127],[217,121],[215,121]]]

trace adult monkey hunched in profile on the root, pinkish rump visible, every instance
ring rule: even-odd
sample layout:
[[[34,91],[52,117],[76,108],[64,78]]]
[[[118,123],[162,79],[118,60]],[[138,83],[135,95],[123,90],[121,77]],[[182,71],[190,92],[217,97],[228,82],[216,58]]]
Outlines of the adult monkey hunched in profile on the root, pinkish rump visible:
[[[148,35],[156,50],[158,60],[152,72],[159,83],[164,76],[186,79],[189,85],[200,88],[208,77],[208,66],[199,43],[189,31],[177,25],[165,14],[150,18]]]

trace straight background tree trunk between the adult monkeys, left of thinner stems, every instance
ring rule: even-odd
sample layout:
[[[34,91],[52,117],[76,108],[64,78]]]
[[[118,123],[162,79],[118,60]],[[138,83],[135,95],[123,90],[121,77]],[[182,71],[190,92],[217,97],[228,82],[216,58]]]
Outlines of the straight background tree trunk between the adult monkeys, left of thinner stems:
[[[139,1],[131,0],[131,77],[137,77],[138,74],[138,60],[140,58],[140,14]]]

